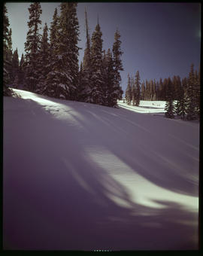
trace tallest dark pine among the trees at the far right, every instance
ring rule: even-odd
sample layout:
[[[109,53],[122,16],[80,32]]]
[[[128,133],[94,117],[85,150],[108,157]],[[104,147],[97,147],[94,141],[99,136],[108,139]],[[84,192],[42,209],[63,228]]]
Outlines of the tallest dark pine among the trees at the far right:
[[[192,63],[189,72],[189,78],[187,79],[186,88],[186,119],[195,120],[197,118],[197,112],[195,109],[195,73],[194,64]]]

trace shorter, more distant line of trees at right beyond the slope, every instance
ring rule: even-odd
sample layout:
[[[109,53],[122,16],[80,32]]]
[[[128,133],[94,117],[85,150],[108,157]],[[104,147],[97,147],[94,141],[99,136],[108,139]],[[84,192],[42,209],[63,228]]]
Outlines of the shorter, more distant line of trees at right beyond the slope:
[[[190,67],[188,77],[175,76],[162,81],[140,81],[137,71],[135,78],[128,75],[125,100],[128,105],[138,106],[140,100],[166,101],[165,117],[174,118],[175,114],[183,120],[195,120],[200,114],[200,72]]]

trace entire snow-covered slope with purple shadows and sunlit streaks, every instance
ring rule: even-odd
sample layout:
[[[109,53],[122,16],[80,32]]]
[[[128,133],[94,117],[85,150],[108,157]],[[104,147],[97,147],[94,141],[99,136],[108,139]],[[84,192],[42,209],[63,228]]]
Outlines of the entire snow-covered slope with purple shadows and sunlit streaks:
[[[198,248],[198,123],[15,91],[4,99],[5,249]]]

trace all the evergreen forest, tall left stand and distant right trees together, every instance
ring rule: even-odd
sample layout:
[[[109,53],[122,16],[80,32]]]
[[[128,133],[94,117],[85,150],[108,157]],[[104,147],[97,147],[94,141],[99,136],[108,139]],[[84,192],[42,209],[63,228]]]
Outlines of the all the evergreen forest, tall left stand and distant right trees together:
[[[11,87],[29,90],[44,96],[89,102],[117,107],[123,99],[120,72],[123,71],[120,32],[114,34],[112,50],[102,49],[102,31],[99,23],[89,35],[85,10],[86,48],[79,67],[79,23],[77,3],[63,2],[60,14],[57,8],[48,28],[45,23],[40,34],[41,4],[29,8],[29,30],[25,42],[25,56],[20,61],[17,49],[12,49],[12,30],[9,29],[7,8],[4,5],[4,95],[12,94]],[[50,36],[48,36],[50,31]],[[140,100],[166,101],[165,117],[175,114],[183,120],[195,120],[200,114],[200,71],[191,65],[188,77],[160,78],[143,81],[139,72],[135,78],[128,75],[125,99],[128,105],[139,105]]]

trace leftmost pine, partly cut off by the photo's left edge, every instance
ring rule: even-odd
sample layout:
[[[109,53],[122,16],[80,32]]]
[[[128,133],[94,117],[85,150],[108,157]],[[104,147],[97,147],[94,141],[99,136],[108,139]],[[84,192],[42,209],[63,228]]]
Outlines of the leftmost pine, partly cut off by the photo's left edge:
[[[8,84],[10,83],[10,74],[9,69],[11,69],[11,56],[9,49],[9,21],[7,16],[7,8],[4,3],[3,10],[3,50],[4,50],[4,63],[3,63],[3,95],[11,96],[13,94],[12,90],[8,88]]]

